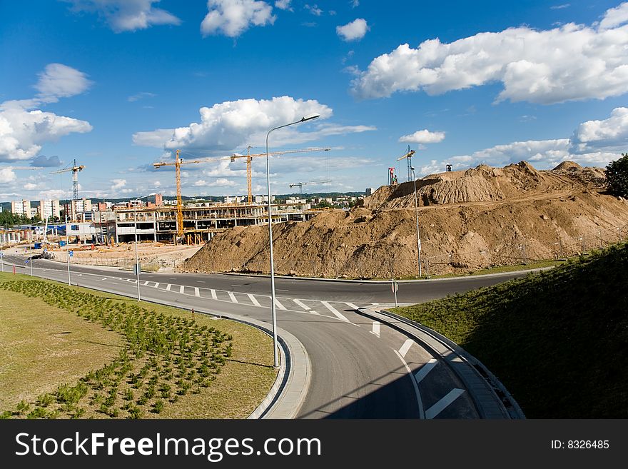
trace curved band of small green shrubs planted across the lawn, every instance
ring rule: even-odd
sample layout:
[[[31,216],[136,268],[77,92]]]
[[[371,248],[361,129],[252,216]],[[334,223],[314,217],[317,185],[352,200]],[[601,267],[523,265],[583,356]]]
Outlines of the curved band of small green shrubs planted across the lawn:
[[[143,418],[208,388],[232,355],[233,337],[194,318],[156,313],[46,281],[4,281],[0,290],[39,298],[123,340],[110,363],[76,383],[21,400],[2,418]],[[46,318],[42,318],[46,321]],[[45,373],[46,370],[41,370]]]

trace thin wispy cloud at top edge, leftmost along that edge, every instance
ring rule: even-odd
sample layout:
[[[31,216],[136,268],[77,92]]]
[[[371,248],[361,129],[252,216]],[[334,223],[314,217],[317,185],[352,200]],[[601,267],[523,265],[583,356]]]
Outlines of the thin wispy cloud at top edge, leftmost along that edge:
[[[74,11],[96,12],[116,33],[160,24],[181,24],[170,12],[154,8],[159,0],[64,0]]]

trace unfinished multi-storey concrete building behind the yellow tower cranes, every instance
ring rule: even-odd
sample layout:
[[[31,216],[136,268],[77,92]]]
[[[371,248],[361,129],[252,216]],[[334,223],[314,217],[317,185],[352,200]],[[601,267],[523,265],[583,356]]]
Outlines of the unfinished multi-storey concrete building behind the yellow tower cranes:
[[[126,207],[96,212],[94,226],[103,242],[128,243],[135,241],[162,241],[196,244],[210,240],[235,226],[268,223],[268,205],[196,203],[181,208],[183,229],[177,226],[177,207]],[[308,203],[276,203],[272,205],[273,223],[305,221],[315,215]],[[181,232],[183,235],[181,236]]]

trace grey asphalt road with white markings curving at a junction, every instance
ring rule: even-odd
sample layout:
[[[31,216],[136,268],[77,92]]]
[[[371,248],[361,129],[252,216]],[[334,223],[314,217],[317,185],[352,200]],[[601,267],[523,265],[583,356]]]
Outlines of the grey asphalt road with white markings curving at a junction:
[[[19,273],[30,272],[21,255],[7,255]],[[68,281],[64,263],[35,260],[36,276]],[[9,271],[5,265],[5,271]],[[522,273],[400,283],[399,303],[418,303],[506,281]],[[136,276],[114,268],[71,266],[73,285],[136,296]],[[222,315],[270,323],[266,277],[142,273],[141,296]],[[300,418],[477,418],[464,386],[419,343],[357,308],[390,306],[390,283],[277,278],[278,326],[308,352],[312,378]],[[420,379],[419,379],[420,378]]]

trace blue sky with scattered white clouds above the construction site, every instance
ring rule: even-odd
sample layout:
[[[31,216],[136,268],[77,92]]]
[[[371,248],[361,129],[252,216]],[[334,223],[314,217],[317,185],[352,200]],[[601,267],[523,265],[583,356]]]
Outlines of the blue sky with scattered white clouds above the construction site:
[[[618,1],[0,2],[0,201],[172,195],[186,158],[265,151],[273,193],[363,191],[410,146],[417,176],[627,151],[628,4]],[[23,170],[25,166],[44,169]],[[265,193],[265,158],[253,160]],[[184,166],[183,194],[246,192],[245,165]],[[304,187],[305,189],[305,187]]]

